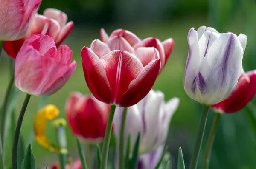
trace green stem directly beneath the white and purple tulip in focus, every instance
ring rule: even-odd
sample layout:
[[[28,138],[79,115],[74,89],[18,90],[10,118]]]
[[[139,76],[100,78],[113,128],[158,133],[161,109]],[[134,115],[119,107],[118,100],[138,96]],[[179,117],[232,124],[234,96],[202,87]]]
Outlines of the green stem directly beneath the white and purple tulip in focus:
[[[208,110],[209,110],[209,106],[202,105],[202,114],[200,118],[198,133],[196,135],[194,151],[192,154],[189,169],[196,169],[197,167],[201,144],[204,136],[204,129],[207,121]]]

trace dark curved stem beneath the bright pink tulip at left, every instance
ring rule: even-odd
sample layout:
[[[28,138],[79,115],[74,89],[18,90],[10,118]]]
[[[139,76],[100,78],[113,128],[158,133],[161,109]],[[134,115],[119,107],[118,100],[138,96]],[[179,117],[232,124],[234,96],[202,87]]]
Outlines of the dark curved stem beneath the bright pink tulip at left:
[[[22,108],[20,110],[20,115],[17,121],[14,141],[12,146],[12,169],[17,169],[17,152],[18,152],[18,143],[19,143],[19,137],[20,137],[20,129],[21,129],[21,124],[22,124],[22,121],[26,112],[26,107],[28,106],[30,97],[31,97],[30,94],[26,95],[26,98],[23,102]]]

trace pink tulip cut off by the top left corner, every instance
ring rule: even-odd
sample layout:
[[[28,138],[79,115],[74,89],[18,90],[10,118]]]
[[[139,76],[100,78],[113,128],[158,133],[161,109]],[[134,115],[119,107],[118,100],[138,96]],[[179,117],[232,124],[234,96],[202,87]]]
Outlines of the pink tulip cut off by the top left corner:
[[[41,0],[1,0],[0,40],[21,39],[29,29]]]

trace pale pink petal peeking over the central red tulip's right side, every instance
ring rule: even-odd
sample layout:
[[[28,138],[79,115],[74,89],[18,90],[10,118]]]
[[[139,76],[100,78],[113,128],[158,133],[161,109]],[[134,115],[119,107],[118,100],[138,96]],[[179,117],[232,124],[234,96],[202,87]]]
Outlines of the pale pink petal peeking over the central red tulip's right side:
[[[159,59],[159,53],[154,47],[137,48],[137,50],[134,52],[134,55],[140,59],[140,62],[144,67],[148,65],[152,60]]]

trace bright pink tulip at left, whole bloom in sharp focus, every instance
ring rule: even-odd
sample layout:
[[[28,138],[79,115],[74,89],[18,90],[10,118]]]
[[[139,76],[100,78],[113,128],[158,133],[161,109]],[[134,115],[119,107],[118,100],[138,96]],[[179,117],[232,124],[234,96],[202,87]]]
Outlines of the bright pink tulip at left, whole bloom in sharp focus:
[[[63,87],[76,70],[67,45],[59,50],[52,37],[32,35],[26,39],[15,61],[15,85],[36,96],[49,96]],[[70,64],[71,63],[71,64]]]

